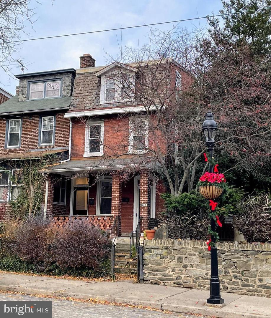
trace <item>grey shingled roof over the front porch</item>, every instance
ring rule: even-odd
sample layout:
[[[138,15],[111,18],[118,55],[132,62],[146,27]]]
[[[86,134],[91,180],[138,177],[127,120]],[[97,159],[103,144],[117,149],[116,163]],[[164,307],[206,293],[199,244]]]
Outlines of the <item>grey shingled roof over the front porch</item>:
[[[122,169],[153,169],[154,162],[146,162],[145,158],[103,158],[103,159],[81,159],[70,160],[63,163],[57,163],[48,166],[43,172],[61,173],[71,175],[72,173],[80,173],[97,170],[122,170]]]

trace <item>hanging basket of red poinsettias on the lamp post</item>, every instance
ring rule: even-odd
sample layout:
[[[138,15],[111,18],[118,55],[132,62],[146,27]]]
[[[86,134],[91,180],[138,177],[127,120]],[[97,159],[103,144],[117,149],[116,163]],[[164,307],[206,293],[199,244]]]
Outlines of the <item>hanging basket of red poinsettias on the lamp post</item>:
[[[205,172],[198,182],[200,193],[206,199],[216,199],[227,187],[223,173]]]

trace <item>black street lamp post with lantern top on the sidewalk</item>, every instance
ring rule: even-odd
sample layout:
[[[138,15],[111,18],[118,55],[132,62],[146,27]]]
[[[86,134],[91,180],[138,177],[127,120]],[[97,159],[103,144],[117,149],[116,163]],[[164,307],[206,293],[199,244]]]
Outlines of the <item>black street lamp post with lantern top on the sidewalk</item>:
[[[205,144],[208,147],[209,156],[212,159],[213,150],[215,146],[215,136],[216,136],[217,124],[214,121],[214,116],[211,112],[206,114],[205,121],[202,125],[202,131],[205,136]],[[209,164],[209,172],[213,172],[213,166]],[[216,231],[216,222],[211,218],[211,230]],[[224,299],[220,295],[220,281],[218,277],[218,260],[217,260],[217,247],[216,239],[211,236],[211,280],[210,280],[210,297],[207,299],[207,304],[223,304]]]

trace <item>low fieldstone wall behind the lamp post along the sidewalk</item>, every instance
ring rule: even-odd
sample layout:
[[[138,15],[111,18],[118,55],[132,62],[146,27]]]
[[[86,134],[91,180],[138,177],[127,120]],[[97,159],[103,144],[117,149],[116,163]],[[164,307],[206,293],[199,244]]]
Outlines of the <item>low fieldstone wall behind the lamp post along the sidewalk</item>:
[[[218,243],[221,291],[271,297],[271,244]],[[210,252],[205,241],[144,241],[148,283],[209,289]]]

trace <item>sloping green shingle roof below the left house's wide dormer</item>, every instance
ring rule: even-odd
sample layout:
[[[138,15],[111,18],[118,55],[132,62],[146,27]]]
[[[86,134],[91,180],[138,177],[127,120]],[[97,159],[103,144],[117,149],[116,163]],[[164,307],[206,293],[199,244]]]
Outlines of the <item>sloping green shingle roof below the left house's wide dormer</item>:
[[[71,97],[69,96],[18,101],[18,95],[15,95],[0,105],[0,115],[67,109],[70,106],[70,99]]]

